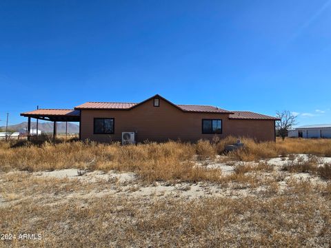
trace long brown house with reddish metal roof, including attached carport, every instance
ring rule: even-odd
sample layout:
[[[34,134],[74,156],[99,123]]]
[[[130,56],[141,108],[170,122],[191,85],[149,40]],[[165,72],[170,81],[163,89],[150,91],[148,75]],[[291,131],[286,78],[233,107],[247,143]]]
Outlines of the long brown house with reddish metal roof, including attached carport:
[[[74,110],[34,110],[21,116],[54,122],[80,123],[81,140],[122,141],[123,132],[143,141],[198,141],[215,136],[250,137],[275,141],[277,118],[247,111],[229,111],[210,105],[178,105],[159,94],[140,103],[88,102]]]

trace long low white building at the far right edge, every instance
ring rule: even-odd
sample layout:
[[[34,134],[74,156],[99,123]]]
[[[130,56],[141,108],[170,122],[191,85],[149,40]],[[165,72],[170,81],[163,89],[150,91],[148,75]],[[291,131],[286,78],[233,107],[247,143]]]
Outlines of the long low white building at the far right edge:
[[[288,131],[290,138],[331,138],[331,124],[303,125]]]

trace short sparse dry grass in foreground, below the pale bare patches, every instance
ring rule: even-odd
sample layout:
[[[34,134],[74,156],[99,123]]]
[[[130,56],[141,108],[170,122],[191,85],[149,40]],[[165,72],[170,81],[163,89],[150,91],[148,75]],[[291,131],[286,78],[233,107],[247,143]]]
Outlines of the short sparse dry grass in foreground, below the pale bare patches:
[[[240,198],[90,195],[110,183],[0,174],[0,229],[41,240],[0,240],[1,247],[330,247],[331,184],[290,180],[279,192]],[[135,189],[134,189],[135,190]],[[235,192],[237,189],[232,189]],[[79,197],[84,194],[88,197]],[[36,204],[37,203],[37,204]]]

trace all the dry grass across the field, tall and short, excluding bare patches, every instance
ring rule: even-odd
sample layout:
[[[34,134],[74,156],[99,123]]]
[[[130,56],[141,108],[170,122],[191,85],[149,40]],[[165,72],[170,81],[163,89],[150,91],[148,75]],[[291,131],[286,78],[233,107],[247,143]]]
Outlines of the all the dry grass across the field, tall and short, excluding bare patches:
[[[319,141],[330,147],[331,141]],[[227,154],[228,160],[259,161],[294,148],[301,154],[303,147],[292,145],[309,146],[301,139],[243,142],[246,148]],[[305,151],[328,152],[312,142]],[[317,156],[292,155],[285,171],[266,162],[237,162],[232,174],[197,166],[223,153],[226,143],[234,138],[128,146],[0,143],[0,231],[43,237],[0,240],[0,247],[330,247],[331,165],[320,165]],[[83,180],[85,171],[76,179],[12,171],[65,168],[135,172],[139,180]],[[298,180],[297,172],[327,180]],[[202,196],[188,197],[197,182]],[[174,192],[139,194],[141,187],[156,185]]]

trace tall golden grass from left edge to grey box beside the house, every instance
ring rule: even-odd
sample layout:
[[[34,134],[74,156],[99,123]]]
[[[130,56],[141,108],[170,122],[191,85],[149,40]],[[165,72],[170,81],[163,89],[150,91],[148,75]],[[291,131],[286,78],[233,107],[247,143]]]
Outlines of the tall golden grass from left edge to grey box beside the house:
[[[207,148],[203,148],[206,146]],[[219,169],[195,166],[194,154],[214,156],[208,152],[210,143],[145,143],[121,146],[101,143],[43,143],[12,148],[10,143],[1,143],[1,170],[20,169],[39,171],[68,168],[101,169],[136,172],[144,181],[155,180],[217,180]]]

